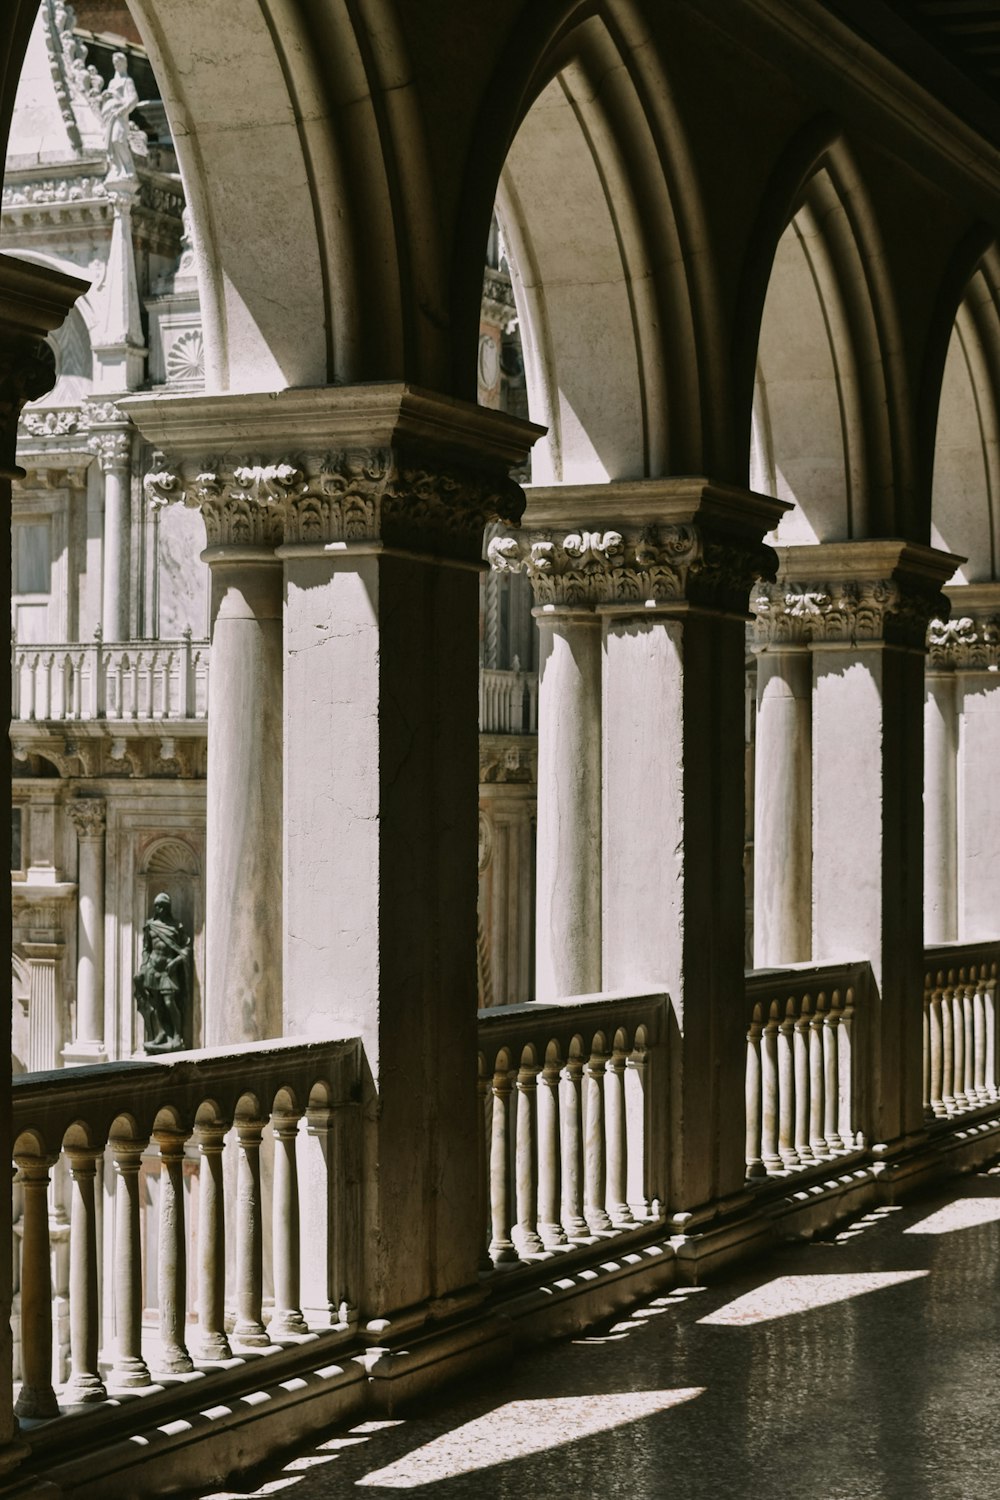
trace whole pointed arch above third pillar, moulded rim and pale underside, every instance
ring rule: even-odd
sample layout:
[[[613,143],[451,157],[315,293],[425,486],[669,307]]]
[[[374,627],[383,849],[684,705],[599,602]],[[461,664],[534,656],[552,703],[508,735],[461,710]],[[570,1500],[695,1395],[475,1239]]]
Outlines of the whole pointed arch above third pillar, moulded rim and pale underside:
[[[792,270],[795,264],[795,272]],[[799,285],[780,285],[798,274]],[[904,536],[912,531],[915,464],[900,318],[885,266],[879,225],[838,122],[813,120],[789,146],[772,174],[751,236],[735,327],[735,402],[745,453],[768,447],[754,435],[762,410],[760,356],[771,332],[768,314],[790,316],[799,300],[805,326],[798,339],[799,369],[786,372],[786,398],[802,376],[825,388],[819,448],[795,456],[798,483],[780,498],[798,502],[781,540]],[[772,423],[777,390],[766,392]],[[805,412],[789,412],[789,429],[810,430]],[[834,450],[840,448],[840,474]],[[772,444],[775,476],[783,456]],[[757,478],[759,468],[754,477]],[[835,484],[843,504],[835,504]]]

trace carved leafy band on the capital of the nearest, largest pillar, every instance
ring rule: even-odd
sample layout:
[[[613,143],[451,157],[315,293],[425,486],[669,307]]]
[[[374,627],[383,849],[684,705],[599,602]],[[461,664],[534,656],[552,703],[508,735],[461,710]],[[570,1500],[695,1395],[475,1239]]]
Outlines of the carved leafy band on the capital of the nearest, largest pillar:
[[[484,525],[517,520],[523,510],[513,480],[444,471],[396,447],[207,462],[148,474],[144,488],[153,508],[201,510],[210,546],[384,543],[475,561]]]

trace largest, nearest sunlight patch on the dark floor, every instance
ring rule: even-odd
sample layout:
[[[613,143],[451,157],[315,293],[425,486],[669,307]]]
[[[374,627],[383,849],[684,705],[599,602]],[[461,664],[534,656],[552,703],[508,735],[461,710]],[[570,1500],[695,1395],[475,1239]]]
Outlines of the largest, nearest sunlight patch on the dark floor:
[[[498,1462],[544,1454],[561,1443],[576,1443],[595,1432],[609,1432],[669,1407],[703,1395],[705,1386],[681,1390],[631,1390],[588,1396],[546,1396],[510,1401],[474,1422],[435,1437],[385,1468],[355,1480],[385,1490],[415,1490],[442,1484],[456,1474],[490,1468]]]

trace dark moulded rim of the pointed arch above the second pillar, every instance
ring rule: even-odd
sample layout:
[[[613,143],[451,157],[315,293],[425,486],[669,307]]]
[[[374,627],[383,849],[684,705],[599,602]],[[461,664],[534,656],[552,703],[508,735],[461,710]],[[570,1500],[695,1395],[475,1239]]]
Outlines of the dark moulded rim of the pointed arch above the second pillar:
[[[591,0],[544,21],[529,15],[508,40],[472,135],[451,267],[453,388],[474,396],[483,250],[495,201],[517,192],[505,170],[511,147],[562,80],[628,286],[645,471],[715,471],[727,412],[720,298],[664,62],[631,0]]]

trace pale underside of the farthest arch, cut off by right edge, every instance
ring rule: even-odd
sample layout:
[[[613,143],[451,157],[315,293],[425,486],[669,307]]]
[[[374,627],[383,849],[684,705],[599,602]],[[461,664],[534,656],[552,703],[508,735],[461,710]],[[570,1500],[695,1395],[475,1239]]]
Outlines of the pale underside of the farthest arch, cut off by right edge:
[[[931,544],[967,558],[955,582],[1000,578],[1000,327],[984,266],[972,278],[948,344],[937,406]]]

